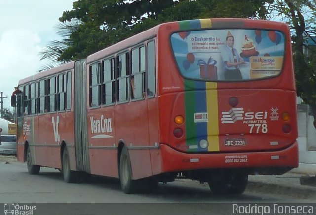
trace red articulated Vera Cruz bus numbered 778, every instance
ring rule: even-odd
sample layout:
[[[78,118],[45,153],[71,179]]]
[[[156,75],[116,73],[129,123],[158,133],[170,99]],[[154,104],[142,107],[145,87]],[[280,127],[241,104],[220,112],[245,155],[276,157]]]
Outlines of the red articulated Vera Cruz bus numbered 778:
[[[242,193],[249,174],[298,166],[287,24],[160,24],[20,80],[18,160],[120,179],[125,193],[183,177]]]

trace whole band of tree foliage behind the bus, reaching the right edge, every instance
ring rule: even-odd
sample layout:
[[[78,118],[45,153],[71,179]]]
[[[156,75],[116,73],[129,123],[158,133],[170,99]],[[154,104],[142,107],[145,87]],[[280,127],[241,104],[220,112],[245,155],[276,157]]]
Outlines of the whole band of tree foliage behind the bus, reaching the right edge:
[[[216,17],[281,18],[292,30],[297,94],[311,106],[316,119],[315,15],[315,0],[77,0],[73,9],[64,11],[59,18],[66,30],[61,31],[64,40],[53,41],[42,56],[62,62],[86,58],[162,22]]]

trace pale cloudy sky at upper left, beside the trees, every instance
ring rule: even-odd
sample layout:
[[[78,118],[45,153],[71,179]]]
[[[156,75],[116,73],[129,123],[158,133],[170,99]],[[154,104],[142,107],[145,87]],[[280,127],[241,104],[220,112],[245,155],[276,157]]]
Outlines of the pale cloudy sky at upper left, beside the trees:
[[[55,29],[63,11],[76,0],[0,0],[0,92],[3,108],[20,79],[35,74],[47,61],[39,52],[60,39]]]

